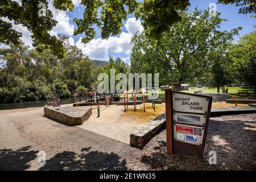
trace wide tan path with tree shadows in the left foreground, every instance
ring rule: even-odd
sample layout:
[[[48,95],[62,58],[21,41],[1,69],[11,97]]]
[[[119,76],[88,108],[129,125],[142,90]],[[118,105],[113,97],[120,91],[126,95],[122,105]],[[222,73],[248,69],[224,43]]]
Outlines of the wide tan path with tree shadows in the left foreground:
[[[122,170],[128,144],[43,117],[43,107],[0,111],[0,170]],[[39,151],[46,164],[38,164]]]

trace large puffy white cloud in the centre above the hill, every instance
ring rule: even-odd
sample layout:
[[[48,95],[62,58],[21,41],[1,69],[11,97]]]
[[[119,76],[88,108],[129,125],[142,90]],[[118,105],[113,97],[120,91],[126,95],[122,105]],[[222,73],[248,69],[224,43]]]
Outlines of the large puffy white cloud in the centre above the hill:
[[[119,37],[112,36],[109,39],[93,39],[89,43],[81,43],[81,38],[76,42],[76,46],[82,49],[82,53],[88,56],[90,59],[97,60],[108,60],[109,52],[114,53],[125,53],[130,57],[131,48],[131,38],[138,32],[141,34],[143,27],[139,20],[135,18],[129,18],[125,24],[127,32],[122,32]],[[126,61],[128,60],[125,57]]]

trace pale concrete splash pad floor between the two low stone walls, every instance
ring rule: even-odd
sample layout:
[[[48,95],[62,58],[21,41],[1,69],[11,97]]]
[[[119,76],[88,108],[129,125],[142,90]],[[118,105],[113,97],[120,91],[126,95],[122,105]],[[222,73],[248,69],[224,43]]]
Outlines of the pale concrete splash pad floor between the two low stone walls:
[[[137,105],[137,109],[141,109],[141,106]],[[127,113],[123,111],[123,106],[100,106],[100,117],[97,117],[97,109],[93,109],[93,114],[88,121],[77,127],[130,144],[130,134],[150,119],[145,121],[137,117],[136,113],[131,112],[133,106],[129,109],[130,112]]]

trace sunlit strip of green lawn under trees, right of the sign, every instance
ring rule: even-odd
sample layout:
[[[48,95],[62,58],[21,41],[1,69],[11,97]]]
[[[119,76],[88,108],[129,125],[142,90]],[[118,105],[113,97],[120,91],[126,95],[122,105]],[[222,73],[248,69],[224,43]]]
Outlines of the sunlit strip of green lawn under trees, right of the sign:
[[[228,90],[229,94],[237,94],[238,92],[243,92],[243,91],[254,93],[254,88],[241,88],[239,86],[236,86],[236,87],[228,87],[228,89],[229,89]],[[204,93],[217,93],[217,88],[214,88],[214,89],[189,88],[189,90],[185,90],[182,92],[194,93],[195,91],[198,91],[198,90],[203,90]],[[221,92],[221,89],[220,89],[220,92]]]

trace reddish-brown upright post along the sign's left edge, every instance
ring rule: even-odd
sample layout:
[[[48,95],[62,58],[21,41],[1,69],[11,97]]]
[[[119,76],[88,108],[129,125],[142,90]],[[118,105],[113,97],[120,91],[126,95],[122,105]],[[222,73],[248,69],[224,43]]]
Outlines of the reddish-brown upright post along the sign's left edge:
[[[167,153],[172,154],[172,108],[171,108],[171,91],[166,89],[166,140],[167,140]]]

